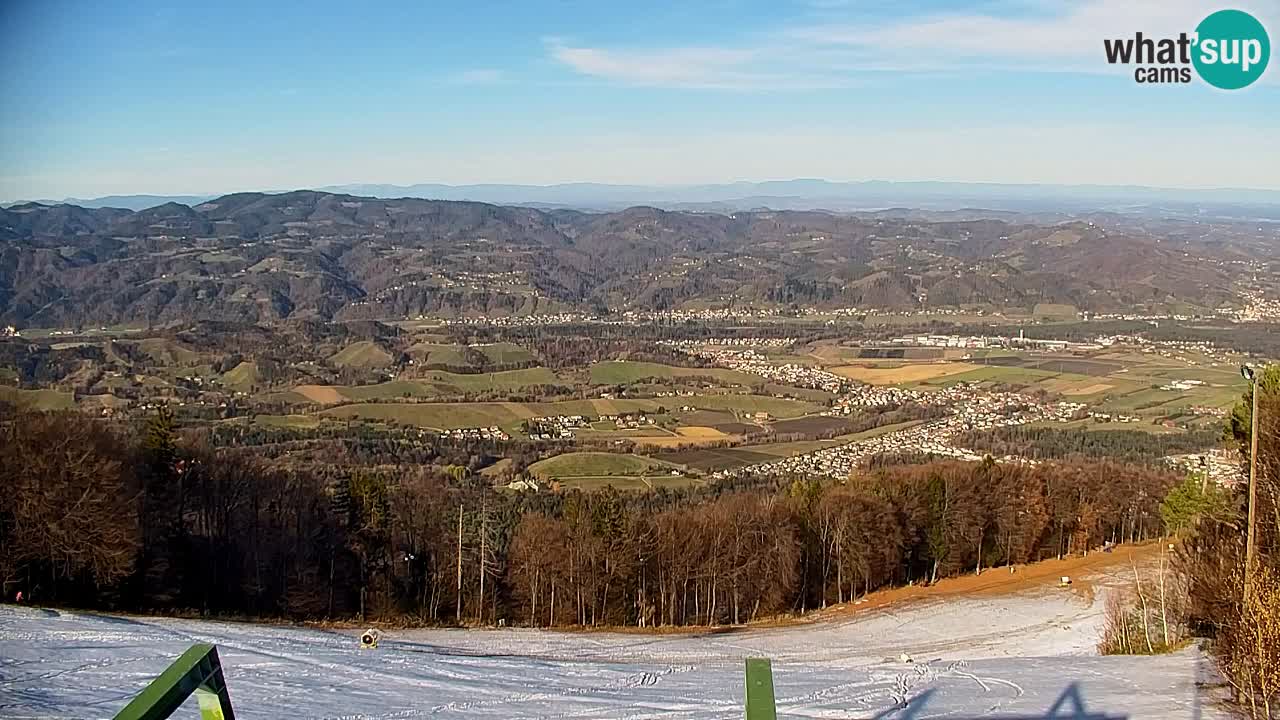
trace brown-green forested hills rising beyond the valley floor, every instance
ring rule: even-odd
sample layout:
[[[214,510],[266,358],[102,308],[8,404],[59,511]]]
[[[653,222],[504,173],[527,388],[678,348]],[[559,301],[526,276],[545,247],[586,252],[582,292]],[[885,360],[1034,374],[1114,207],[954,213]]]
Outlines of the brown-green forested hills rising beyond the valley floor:
[[[1196,233],[1010,217],[589,214],[314,191],[140,211],[24,204],[0,209],[0,323],[603,314],[728,299],[1096,311],[1229,304],[1240,251]]]

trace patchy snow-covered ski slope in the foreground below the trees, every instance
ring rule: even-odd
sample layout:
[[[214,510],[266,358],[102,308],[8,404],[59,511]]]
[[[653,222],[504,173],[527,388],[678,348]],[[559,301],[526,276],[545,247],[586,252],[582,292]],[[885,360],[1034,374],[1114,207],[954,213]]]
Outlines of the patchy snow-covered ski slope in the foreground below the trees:
[[[357,632],[5,606],[0,717],[110,717],[193,642],[218,644],[246,720],[736,719],[751,656],[773,659],[783,717],[1226,716],[1197,691],[1216,675],[1194,648],[1097,656],[1101,607],[1041,588],[785,628],[416,630],[361,650]]]

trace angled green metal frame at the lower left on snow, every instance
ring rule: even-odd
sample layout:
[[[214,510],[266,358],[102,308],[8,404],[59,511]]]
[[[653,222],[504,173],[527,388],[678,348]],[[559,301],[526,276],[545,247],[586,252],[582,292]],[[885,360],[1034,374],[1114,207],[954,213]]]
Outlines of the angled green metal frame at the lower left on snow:
[[[196,693],[200,702],[201,720],[236,720],[218,648],[211,644],[191,646],[124,710],[116,712],[115,720],[164,720],[182,707],[191,693]]]

